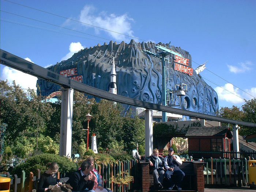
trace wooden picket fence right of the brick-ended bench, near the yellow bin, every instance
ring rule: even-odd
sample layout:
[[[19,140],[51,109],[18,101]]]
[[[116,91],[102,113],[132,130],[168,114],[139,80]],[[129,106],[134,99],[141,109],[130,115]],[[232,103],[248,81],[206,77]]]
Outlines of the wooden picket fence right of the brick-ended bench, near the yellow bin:
[[[254,159],[254,158],[252,158]],[[248,161],[246,158],[204,159],[204,184],[238,185],[248,184]]]

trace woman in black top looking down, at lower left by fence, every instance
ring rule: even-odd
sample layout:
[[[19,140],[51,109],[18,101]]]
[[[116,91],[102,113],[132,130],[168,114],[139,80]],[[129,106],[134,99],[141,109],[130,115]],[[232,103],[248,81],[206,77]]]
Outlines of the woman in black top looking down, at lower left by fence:
[[[42,174],[38,184],[38,191],[45,192],[49,188],[49,185],[61,185],[61,182],[57,179],[58,164],[56,162],[49,163],[49,169]]]

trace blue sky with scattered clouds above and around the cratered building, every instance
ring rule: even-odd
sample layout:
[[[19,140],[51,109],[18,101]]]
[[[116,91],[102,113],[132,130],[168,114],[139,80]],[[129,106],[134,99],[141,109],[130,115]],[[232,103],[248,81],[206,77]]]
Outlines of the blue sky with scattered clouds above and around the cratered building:
[[[110,40],[171,42],[194,69],[207,61],[200,75],[219,108],[256,97],[255,0],[0,0],[0,10],[1,49],[42,67]],[[0,75],[36,90],[34,76],[4,65]]]

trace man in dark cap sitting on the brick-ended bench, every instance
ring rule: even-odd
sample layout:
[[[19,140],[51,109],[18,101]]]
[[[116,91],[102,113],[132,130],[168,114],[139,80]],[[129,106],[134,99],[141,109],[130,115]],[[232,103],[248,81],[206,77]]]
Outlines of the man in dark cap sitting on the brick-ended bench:
[[[182,161],[178,155],[173,155],[174,151],[173,148],[170,147],[168,150],[168,155],[165,157],[163,162],[165,163],[165,177],[167,178],[169,182],[169,190],[172,190],[174,187],[174,183],[172,180],[172,175],[177,176],[177,183],[176,186],[178,190],[181,190],[181,181],[183,180],[185,173],[180,170],[180,165],[182,164]]]

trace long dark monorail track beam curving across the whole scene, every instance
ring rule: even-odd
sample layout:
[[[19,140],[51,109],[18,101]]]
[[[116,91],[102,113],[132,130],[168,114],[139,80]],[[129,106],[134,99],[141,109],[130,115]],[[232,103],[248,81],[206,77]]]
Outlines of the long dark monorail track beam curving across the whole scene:
[[[64,77],[60,74],[57,74],[48,69],[45,69],[39,65],[26,61],[25,59],[22,59],[18,56],[15,56],[14,54],[8,53],[5,50],[0,49],[0,55],[1,55],[1,64],[3,65],[17,69],[19,71],[25,72],[27,74],[36,76],[41,79],[48,80],[52,83],[59,84],[64,88],[72,88],[76,91],[93,95],[95,97],[100,97],[100,98],[108,99],[115,102],[125,103],[128,105],[143,107],[146,109],[153,109],[153,110],[164,111],[168,113],[176,113],[176,114],[181,114],[185,116],[198,117],[198,118],[203,118],[207,120],[220,121],[220,122],[230,123],[235,125],[256,127],[256,123],[248,123],[244,121],[237,121],[237,120],[223,118],[223,117],[216,117],[216,116],[207,115],[203,113],[197,113],[197,112],[192,112],[188,110],[172,108],[169,106],[163,106],[163,105],[158,105],[154,103],[144,102],[144,101],[132,99],[129,97],[123,97],[121,95],[115,95],[107,91],[103,91],[95,87],[91,87],[89,85],[76,82],[75,80],[71,80],[67,77]]]

